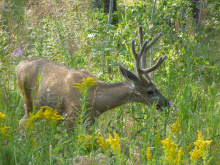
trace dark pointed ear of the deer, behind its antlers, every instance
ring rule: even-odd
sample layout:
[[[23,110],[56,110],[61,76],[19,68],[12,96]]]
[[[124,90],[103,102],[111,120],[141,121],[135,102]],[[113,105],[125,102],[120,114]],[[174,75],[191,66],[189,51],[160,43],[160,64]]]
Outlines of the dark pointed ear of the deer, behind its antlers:
[[[123,75],[123,77],[128,80],[128,81],[132,81],[134,84],[137,84],[137,83],[141,83],[141,80],[134,74],[132,73],[131,71],[125,69],[123,66],[119,65],[118,64],[118,67]]]

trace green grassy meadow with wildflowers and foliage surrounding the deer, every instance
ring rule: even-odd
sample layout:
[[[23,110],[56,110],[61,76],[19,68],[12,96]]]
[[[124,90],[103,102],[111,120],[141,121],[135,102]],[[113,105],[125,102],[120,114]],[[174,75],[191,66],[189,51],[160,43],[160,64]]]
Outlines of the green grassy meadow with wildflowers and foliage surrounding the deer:
[[[107,17],[89,4],[0,2],[0,165],[219,164],[220,20],[215,3],[203,8],[197,26],[188,8],[180,17],[186,5],[179,1],[157,2],[153,20],[153,3],[120,1],[117,27],[106,25]],[[126,104],[99,117],[90,133],[83,124],[71,132],[64,123],[46,119],[36,120],[34,127],[19,126],[25,113],[16,80],[21,60],[41,56],[88,69],[105,82],[122,82],[118,63],[134,71],[131,40],[138,42],[139,25],[146,39],[163,33],[154,60],[168,59],[153,81],[172,107],[159,113]]]

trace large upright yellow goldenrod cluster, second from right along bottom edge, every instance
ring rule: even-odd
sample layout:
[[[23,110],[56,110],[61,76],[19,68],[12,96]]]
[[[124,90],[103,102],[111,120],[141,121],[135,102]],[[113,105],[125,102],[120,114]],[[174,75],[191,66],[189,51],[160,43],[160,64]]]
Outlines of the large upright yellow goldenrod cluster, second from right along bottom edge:
[[[166,160],[168,162],[173,162],[173,160],[177,154],[177,149],[176,149],[177,145],[174,142],[172,142],[171,133],[170,133],[169,137],[165,140],[162,140],[161,143],[163,145]]]

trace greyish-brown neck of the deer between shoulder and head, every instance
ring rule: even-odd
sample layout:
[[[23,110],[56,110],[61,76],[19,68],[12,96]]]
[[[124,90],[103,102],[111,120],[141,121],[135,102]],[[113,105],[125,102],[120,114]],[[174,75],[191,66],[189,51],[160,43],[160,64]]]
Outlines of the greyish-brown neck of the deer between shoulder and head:
[[[101,114],[109,109],[134,101],[132,96],[134,96],[134,92],[131,82],[100,83],[95,87],[91,97],[92,106],[94,110]]]

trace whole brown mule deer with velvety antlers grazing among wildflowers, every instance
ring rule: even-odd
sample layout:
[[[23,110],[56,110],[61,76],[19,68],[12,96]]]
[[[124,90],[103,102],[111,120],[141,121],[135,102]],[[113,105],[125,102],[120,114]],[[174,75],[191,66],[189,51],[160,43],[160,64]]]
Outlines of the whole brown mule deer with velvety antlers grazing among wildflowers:
[[[162,111],[162,107],[168,105],[168,101],[151,82],[148,73],[156,70],[167,56],[160,57],[152,67],[146,67],[146,53],[160,36],[161,33],[158,33],[149,43],[143,42],[142,27],[139,27],[140,53],[135,51],[134,40],[131,45],[136,75],[119,65],[122,75],[127,80],[121,83],[104,83],[84,69],[74,70],[44,58],[34,57],[20,62],[17,78],[26,110],[21,123],[29,118],[30,112],[33,111],[33,102],[36,110],[42,106],[49,106],[56,109],[60,115],[67,114],[69,119],[77,117],[81,95],[73,86],[87,77],[93,77],[98,84],[88,91],[90,104],[87,114],[89,113],[91,123],[107,110],[129,102],[141,102],[149,106],[155,102],[156,108]]]

